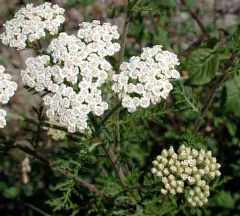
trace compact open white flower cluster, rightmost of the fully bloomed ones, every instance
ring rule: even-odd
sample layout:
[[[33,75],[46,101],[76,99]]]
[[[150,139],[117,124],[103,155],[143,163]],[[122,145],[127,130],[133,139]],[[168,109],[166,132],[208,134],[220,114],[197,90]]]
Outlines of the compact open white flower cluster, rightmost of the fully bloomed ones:
[[[113,91],[119,94],[122,106],[129,112],[157,104],[172,90],[170,80],[180,78],[177,65],[177,56],[162,50],[162,46],[144,48],[140,57],[122,63],[120,74],[113,76]]]

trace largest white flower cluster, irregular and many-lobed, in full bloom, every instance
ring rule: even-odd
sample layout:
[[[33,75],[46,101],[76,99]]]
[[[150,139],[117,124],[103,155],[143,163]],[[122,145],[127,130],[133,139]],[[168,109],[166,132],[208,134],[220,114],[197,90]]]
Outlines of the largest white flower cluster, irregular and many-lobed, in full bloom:
[[[61,33],[48,48],[48,55],[29,58],[22,71],[24,84],[45,91],[43,98],[50,121],[69,132],[88,128],[88,114],[101,116],[108,109],[101,87],[106,83],[111,64],[105,59],[120,46],[117,27],[99,21],[83,23],[75,35]]]

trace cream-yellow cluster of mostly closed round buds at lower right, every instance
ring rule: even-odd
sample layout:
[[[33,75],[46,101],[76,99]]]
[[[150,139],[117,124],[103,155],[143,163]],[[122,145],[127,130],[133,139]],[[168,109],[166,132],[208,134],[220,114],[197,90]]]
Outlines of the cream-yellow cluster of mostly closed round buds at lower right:
[[[161,178],[162,194],[186,192],[187,202],[203,206],[208,202],[210,180],[220,176],[220,164],[211,151],[200,151],[182,145],[177,153],[173,147],[164,149],[153,161],[152,173]]]

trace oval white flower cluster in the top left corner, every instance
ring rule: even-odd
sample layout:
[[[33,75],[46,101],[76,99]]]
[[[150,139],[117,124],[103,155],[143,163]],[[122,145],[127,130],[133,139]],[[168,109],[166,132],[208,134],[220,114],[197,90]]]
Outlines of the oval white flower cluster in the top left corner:
[[[33,4],[28,4],[4,24],[5,32],[0,35],[0,39],[5,45],[24,49],[27,42],[45,37],[46,32],[57,34],[64,21],[64,9],[58,5],[47,2],[34,7]]]

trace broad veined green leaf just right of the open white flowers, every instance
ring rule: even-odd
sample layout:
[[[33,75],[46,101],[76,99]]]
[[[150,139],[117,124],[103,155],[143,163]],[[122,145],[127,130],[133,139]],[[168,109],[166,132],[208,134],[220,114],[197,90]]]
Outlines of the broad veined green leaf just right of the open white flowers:
[[[198,49],[188,60],[187,70],[192,85],[205,85],[210,82],[219,69],[219,55],[212,49]]]

